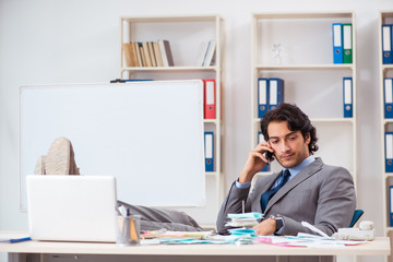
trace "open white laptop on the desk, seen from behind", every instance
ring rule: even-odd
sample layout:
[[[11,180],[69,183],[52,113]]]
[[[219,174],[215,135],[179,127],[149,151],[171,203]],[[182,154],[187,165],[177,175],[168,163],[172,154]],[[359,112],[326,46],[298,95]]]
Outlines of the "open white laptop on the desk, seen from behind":
[[[116,241],[114,177],[28,175],[26,190],[32,239]]]

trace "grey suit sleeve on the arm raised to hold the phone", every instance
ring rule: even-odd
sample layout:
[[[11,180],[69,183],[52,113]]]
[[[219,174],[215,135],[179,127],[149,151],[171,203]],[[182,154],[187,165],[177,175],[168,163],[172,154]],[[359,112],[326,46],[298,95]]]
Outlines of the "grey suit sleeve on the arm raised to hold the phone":
[[[242,201],[245,201],[246,203],[246,212],[250,212],[250,207],[248,206],[247,203],[247,196],[248,193],[250,191],[250,188],[247,189],[239,189],[235,186],[235,182],[231,184],[228,194],[226,195],[219,213],[218,213],[218,217],[217,217],[217,231],[218,234],[222,235],[228,235],[228,229],[230,227],[225,226],[225,224],[227,223],[227,215],[229,213],[241,213],[242,212]]]

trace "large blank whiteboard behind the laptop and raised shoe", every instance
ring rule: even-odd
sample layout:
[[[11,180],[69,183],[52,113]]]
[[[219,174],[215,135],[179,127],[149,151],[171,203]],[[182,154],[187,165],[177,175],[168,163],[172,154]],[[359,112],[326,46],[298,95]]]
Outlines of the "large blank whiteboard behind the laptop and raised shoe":
[[[119,200],[204,204],[202,81],[22,86],[20,94],[22,210],[26,175],[59,136],[71,141],[81,175],[117,178]]]

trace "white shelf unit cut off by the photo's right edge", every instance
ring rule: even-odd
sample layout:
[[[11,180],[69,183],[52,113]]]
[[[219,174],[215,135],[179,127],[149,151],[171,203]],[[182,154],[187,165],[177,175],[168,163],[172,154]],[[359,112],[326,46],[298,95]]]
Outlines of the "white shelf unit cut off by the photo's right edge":
[[[384,78],[393,78],[393,64],[383,64],[382,61],[382,24],[393,24],[393,10],[384,11],[379,13],[379,64],[380,64],[380,105],[381,105],[381,148],[383,150],[381,157],[381,167],[383,171],[383,182],[382,182],[382,192],[383,192],[383,230],[386,236],[393,240],[393,227],[390,226],[390,196],[389,196],[389,186],[393,186],[393,172],[385,171],[385,132],[393,131],[393,119],[385,118],[384,116]],[[393,261],[393,255],[386,257],[385,261]]]

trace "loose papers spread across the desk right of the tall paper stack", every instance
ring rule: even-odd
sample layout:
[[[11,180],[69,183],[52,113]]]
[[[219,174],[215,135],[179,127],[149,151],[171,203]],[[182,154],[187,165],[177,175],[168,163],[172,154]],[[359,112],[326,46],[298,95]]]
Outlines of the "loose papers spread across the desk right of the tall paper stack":
[[[255,239],[258,242],[269,243],[281,247],[308,247],[308,248],[345,248],[346,246],[356,246],[367,241],[337,240],[330,237],[319,237],[309,234],[299,234],[291,236],[261,236]]]

